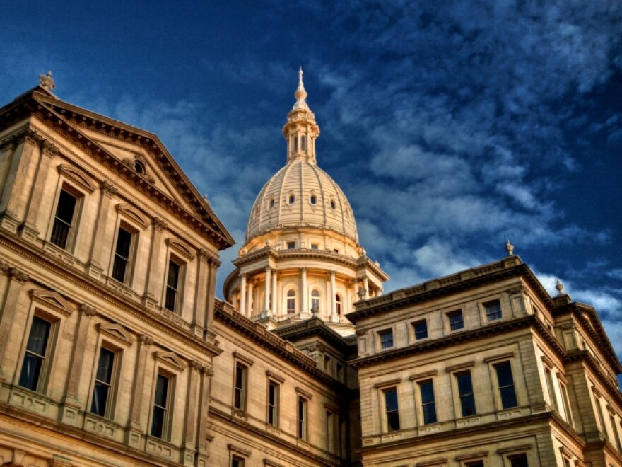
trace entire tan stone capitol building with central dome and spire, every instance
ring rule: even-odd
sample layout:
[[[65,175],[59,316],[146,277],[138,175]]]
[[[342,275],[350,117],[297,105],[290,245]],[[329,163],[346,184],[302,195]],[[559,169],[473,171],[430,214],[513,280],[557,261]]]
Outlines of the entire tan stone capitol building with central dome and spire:
[[[0,467],[622,467],[597,311],[509,241],[385,293],[302,70],[223,300],[235,241],[158,136],[53,91],[0,108]]]

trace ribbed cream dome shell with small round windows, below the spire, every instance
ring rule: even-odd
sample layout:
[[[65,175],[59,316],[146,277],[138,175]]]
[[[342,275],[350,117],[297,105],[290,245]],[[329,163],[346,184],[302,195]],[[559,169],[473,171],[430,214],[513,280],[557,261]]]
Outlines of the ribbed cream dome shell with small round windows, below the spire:
[[[358,243],[356,223],[346,195],[315,160],[288,161],[259,192],[246,231],[246,242],[276,229],[327,229]]]

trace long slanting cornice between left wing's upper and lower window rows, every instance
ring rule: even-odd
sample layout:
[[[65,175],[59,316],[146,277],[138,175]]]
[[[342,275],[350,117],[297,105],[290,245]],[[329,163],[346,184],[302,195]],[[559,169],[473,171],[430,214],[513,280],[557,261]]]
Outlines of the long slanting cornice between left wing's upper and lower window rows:
[[[141,321],[144,321],[149,328],[158,329],[170,335],[173,340],[181,340],[185,345],[189,345],[198,352],[203,352],[211,357],[216,357],[216,355],[223,352],[222,349],[218,348],[213,343],[201,340],[196,337],[194,333],[177,328],[169,321],[163,320],[160,314],[153,313],[153,311],[143,306],[129,302],[127,297],[119,294],[119,292],[110,287],[106,287],[105,284],[94,281],[93,278],[86,273],[67,267],[66,264],[61,263],[60,260],[57,260],[57,258],[51,255],[42,255],[42,250],[35,248],[32,243],[4,229],[0,229],[0,246],[13,250],[31,263],[35,263],[40,267],[45,267],[46,270],[52,272],[56,277],[62,277],[66,282],[77,284],[84,292],[107,301],[113,308],[139,318]],[[35,280],[32,275],[30,275],[30,280]],[[49,286],[46,284],[46,287]],[[126,325],[127,328],[131,328],[131,326],[127,326],[127,323],[124,325]],[[138,330],[134,331],[137,332]],[[163,348],[168,348],[166,342],[158,342],[158,345]],[[184,358],[189,359],[189,357]]]

